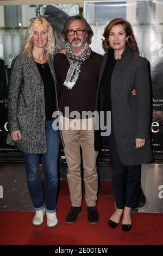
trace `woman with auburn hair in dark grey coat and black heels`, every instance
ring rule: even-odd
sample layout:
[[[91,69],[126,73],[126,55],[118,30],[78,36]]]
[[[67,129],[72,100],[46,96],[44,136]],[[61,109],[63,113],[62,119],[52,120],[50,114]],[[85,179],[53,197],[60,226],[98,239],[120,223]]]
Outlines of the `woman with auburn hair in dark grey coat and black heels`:
[[[103,36],[106,53],[96,106],[98,111],[111,111],[111,133],[106,144],[110,149],[116,210],[108,224],[116,228],[123,215],[122,230],[129,231],[131,209],[139,202],[141,163],[152,160],[148,61],[139,56],[128,21],[112,20]],[[136,96],[131,93],[134,88]],[[95,131],[95,150],[99,150],[100,135]]]

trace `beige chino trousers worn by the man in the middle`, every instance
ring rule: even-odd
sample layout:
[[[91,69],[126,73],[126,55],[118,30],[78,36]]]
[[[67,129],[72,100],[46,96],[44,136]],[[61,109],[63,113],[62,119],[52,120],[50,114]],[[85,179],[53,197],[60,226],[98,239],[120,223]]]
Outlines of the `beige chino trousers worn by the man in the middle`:
[[[82,205],[81,156],[82,147],[85,200],[87,206],[95,206],[97,200],[98,176],[94,150],[94,118],[68,119],[60,117],[62,137],[64,139],[67,162],[67,181],[72,206]]]

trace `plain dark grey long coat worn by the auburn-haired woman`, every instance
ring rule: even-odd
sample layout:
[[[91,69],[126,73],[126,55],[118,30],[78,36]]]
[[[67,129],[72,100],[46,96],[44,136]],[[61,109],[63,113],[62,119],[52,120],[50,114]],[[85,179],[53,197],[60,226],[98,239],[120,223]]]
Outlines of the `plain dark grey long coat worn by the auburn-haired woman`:
[[[103,110],[104,93],[101,78],[108,54],[105,53],[101,71],[96,109]],[[136,89],[136,96],[131,94]],[[149,89],[148,61],[136,55],[127,46],[121,59],[117,60],[111,77],[111,108],[115,141],[121,162],[126,166],[152,161],[149,134],[151,96]],[[96,121],[96,120],[95,120]],[[135,138],[146,139],[146,144],[135,149]],[[101,131],[95,131],[95,150],[99,150]]]

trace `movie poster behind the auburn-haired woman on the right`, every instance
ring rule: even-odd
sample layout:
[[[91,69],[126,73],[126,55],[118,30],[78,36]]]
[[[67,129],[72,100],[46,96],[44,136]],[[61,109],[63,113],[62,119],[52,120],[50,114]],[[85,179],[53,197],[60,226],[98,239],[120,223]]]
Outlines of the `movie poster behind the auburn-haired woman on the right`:
[[[154,163],[163,163],[163,1],[91,1],[84,4],[84,16],[93,29],[92,50],[104,54],[102,34],[112,19],[128,20],[135,34],[140,55],[151,70],[151,137]],[[146,100],[146,99],[145,99]],[[98,164],[106,163],[103,148]],[[105,152],[105,153],[104,153]],[[109,161],[108,161],[109,164]]]

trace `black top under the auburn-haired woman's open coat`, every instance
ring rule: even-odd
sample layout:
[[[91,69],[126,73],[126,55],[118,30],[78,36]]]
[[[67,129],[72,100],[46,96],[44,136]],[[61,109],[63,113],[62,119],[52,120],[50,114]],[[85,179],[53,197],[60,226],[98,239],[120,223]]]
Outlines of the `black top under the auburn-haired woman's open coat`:
[[[111,77],[116,63],[117,60],[114,58],[114,54],[111,56],[108,54],[108,60],[101,80],[104,92],[104,111],[111,111]]]

